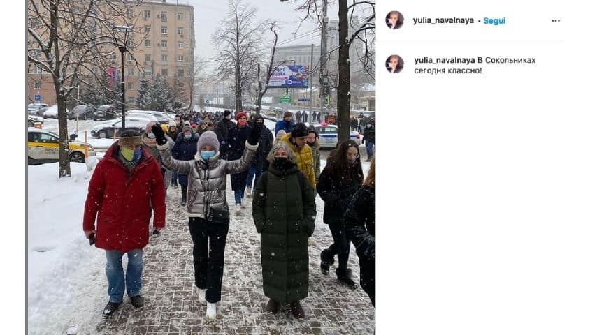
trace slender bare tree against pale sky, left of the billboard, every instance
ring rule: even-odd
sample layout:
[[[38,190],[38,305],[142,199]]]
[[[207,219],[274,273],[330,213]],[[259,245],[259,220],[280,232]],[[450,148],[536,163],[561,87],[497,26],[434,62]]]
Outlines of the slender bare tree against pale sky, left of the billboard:
[[[217,62],[216,77],[226,80],[234,77],[234,97],[236,111],[243,110],[243,92],[250,90],[256,73],[254,64],[259,62],[259,47],[264,23],[254,24],[257,8],[249,7],[243,0],[230,0],[230,10],[220,22],[220,31],[212,36],[220,56]]]

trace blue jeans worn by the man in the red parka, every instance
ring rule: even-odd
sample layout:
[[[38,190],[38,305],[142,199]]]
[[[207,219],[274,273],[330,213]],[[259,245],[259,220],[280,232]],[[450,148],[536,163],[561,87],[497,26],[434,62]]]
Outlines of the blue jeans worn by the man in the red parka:
[[[122,302],[124,283],[126,282],[129,297],[141,295],[141,274],[143,273],[143,249],[133,249],[127,252],[129,264],[127,276],[122,269],[122,255],[120,251],[106,250],[106,277],[108,277],[108,295],[110,302]]]

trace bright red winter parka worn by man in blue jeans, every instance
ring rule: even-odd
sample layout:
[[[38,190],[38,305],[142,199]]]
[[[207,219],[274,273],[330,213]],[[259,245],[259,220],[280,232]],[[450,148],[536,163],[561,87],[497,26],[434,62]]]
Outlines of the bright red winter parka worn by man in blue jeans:
[[[95,246],[122,253],[143,248],[149,241],[150,207],[154,228],[166,223],[164,180],[155,158],[143,149],[141,161],[127,176],[118,160],[118,143],[106,151],[89,181],[83,230],[94,230]],[[98,214],[99,211],[99,214]]]

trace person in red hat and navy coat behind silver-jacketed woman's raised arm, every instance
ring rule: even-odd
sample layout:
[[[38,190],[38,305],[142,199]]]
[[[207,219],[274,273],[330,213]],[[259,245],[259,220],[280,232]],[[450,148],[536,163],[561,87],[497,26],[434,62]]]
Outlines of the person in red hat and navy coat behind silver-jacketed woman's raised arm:
[[[250,126],[247,126],[247,113],[238,112],[236,113],[236,122],[238,124],[234,126],[228,132],[228,161],[234,161],[235,159],[243,157],[245,151],[245,142],[249,138],[249,134],[252,131]],[[231,187],[234,191],[234,204],[236,205],[236,214],[240,214],[240,209],[245,208],[243,198],[245,198],[245,187],[247,186],[247,170],[230,174]]]

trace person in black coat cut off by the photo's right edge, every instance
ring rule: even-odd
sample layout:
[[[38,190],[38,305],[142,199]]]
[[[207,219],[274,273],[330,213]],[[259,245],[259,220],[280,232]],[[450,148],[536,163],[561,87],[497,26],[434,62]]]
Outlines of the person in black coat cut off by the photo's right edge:
[[[344,222],[359,256],[361,288],[375,307],[375,156],[363,186],[344,213]]]

